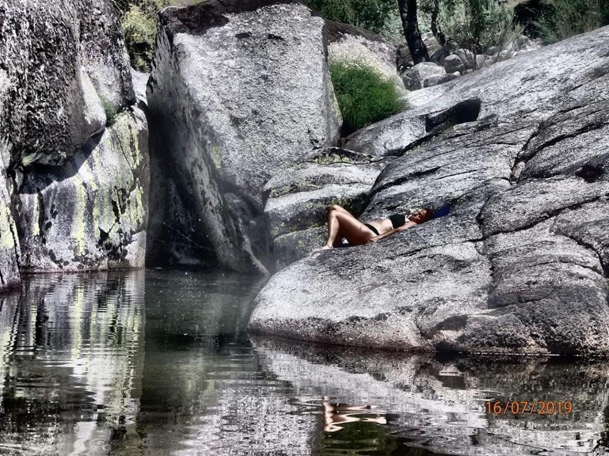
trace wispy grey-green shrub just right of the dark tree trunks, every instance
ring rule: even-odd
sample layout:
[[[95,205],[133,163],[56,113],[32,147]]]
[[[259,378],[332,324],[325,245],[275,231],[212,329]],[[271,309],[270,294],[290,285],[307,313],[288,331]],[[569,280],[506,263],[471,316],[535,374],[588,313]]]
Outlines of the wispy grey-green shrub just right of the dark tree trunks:
[[[514,23],[513,8],[497,0],[444,2],[440,24],[454,47],[470,49],[474,54],[487,52],[491,47],[501,49],[524,29]]]

